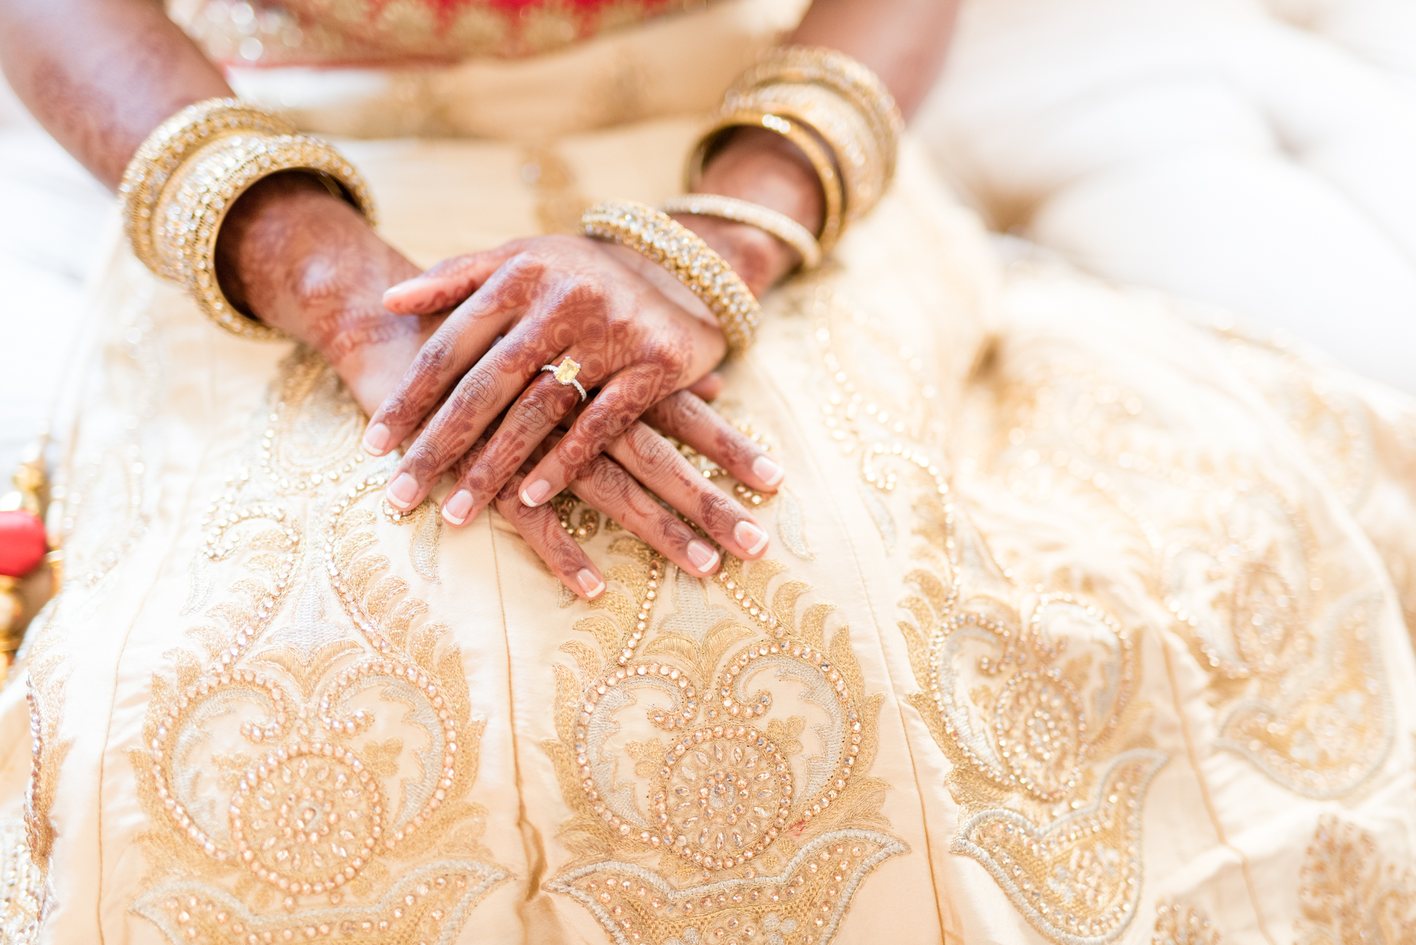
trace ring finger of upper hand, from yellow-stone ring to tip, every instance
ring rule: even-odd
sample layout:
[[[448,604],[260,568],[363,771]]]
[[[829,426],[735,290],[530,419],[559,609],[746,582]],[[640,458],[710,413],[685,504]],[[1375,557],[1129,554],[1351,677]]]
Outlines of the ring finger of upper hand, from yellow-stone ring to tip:
[[[566,357],[573,357],[568,354]],[[549,373],[531,381],[497,424],[486,449],[467,465],[443,502],[443,519],[453,526],[473,521],[515,475],[551,431],[581,402],[581,392]]]

